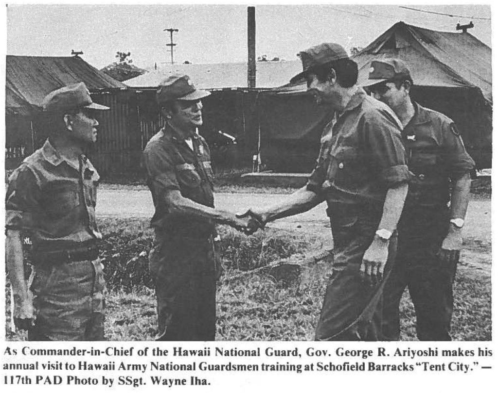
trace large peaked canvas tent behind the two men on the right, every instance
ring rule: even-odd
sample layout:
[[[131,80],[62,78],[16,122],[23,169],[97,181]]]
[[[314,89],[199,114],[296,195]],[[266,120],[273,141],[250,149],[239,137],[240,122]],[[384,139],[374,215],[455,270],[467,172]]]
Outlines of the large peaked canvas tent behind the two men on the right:
[[[415,82],[412,98],[455,120],[478,167],[491,167],[491,48],[468,32],[440,32],[398,22],[353,57],[360,69],[359,82],[368,78],[372,60],[385,57],[408,64]],[[312,108],[305,90],[300,81],[259,95],[261,159],[272,169],[309,171],[318,154],[320,127],[332,114],[302,110]],[[297,121],[296,113],[301,114]],[[280,150],[281,146],[287,149]]]

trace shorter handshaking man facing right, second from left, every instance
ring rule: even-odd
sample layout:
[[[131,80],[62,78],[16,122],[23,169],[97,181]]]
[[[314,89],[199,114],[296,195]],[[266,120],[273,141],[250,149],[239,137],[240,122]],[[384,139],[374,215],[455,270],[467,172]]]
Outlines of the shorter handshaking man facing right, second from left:
[[[215,339],[221,268],[215,224],[244,231],[249,222],[214,209],[209,147],[196,132],[202,125],[201,99],[209,94],[186,75],[165,79],[157,89],[157,104],[166,124],[143,151],[155,206],[149,265],[156,287],[157,340]]]

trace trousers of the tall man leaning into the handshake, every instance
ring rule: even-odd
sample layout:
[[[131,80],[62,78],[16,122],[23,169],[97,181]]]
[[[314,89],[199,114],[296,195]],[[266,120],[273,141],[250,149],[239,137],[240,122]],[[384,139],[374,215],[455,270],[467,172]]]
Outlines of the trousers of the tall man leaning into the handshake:
[[[319,341],[382,340],[382,291],[396,253],[396,234],[389,240],[384,278],[375,282],[360,274],[363,255],[373,241],[382,206],[329,204],[334,237],[334,267],[315,339]]]

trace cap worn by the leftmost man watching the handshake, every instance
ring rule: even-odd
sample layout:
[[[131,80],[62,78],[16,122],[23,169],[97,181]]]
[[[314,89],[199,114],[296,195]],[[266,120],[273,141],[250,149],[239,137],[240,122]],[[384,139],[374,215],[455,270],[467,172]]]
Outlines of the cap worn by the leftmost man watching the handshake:
[[[48,93],[41,106],[45,112],[65,112],[80,108],[108,110],[105,105],[96,104],[90,97],[90,91],[83,82],[68,84]]]

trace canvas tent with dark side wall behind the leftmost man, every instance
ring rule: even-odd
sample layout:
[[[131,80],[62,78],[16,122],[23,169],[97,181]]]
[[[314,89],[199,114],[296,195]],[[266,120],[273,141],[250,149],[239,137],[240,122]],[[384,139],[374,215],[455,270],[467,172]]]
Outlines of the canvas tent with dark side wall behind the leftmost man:
[[[37,129],[41,113],[41,101],[50,91],[70,83],[83,81],[96,102],[111,106],[113,114],[102,117],[103,141],[112,138],[113,128],[122,132],[120,95],[125,95],[126,86],[99,72],[78,56],[35,57],[6,56],[5,75],[5,142],[7,169],[15,168],[24,157],[39,147],[44,134]],[[113,91],[113,94],[109,94]],[[125,97],[121,99],[123,102]],[[118,110],[117,110],[118,109]],[[111,131],[109,131],[111,130]],[[98,161],[98,160],[97,160]],[[100,162],[99,162],[100,163]]]

